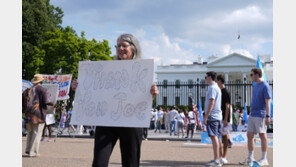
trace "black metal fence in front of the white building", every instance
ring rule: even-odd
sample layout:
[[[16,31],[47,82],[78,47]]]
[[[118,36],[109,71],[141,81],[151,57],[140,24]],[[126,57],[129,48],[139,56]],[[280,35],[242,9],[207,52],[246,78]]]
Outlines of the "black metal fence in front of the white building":
[[[273,90],[273,82],[268,81]],[[195,103],[202,102],[204,109],[208,85],[205,82],[157,82],[159,95],[156,97],[155,105],[184,105],[191,106],[192,99]],[[229,81],[225,83],[231,93],[231,104],[236,106],[250,106],[252,100],[252,82]]]

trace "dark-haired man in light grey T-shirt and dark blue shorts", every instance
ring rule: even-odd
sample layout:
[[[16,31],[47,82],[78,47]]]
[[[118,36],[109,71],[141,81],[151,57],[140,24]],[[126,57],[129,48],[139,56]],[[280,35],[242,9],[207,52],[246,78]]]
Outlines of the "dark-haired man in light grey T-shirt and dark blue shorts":
[[[215,82],[217,77],[216,72],[207,72],[206,82],[209,85],[206,94],[204,124],[207,125],[208,135],[213,143],[214,160],[207,163],[207,166],[222,166],[221,155],[219,149],[222,146],[219,140],[222,124],[222,110],[221,110],[221,90]]]

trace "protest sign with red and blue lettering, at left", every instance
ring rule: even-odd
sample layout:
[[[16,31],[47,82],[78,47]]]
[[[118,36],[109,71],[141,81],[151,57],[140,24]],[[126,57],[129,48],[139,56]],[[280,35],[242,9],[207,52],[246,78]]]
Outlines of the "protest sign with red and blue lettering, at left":
[[[72,74],[67,75],[47,75],[42,74],[44,81],[43,84],[58,84],[59,95],[58,100],[66,100],[69,98],[69,91],[71,85]]]

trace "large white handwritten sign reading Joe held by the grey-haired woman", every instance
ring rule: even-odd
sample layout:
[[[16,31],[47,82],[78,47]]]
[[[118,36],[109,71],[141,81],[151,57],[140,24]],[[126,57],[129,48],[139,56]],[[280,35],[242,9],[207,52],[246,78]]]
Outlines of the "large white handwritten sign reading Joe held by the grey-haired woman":
[[[148,127],[153,60],[79,62],[70,124]]]

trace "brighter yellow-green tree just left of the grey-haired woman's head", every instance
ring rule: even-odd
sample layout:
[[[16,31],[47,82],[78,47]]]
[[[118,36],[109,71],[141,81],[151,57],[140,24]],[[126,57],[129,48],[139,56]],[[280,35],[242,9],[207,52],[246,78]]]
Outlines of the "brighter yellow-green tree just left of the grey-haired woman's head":
[[[107,40],[87,40],[85,32],[79,37],[69,26],[47,32],[40,48],[36,48],[33,57],[43,60],[44,63],[37,68],[43,74],[71,73],[73,78],[77,78],[79,61],[112,60]]]

